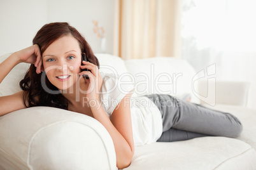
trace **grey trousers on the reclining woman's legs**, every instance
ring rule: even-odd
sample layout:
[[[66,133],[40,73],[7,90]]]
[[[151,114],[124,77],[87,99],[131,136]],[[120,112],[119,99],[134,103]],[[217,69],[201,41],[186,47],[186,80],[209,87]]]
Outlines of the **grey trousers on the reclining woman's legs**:
[[[180,141],[203,136],[236,138],[243,126],[234,115],[179,100],[170,95],[144,95],[162,114],[163,133],[157,141]]]

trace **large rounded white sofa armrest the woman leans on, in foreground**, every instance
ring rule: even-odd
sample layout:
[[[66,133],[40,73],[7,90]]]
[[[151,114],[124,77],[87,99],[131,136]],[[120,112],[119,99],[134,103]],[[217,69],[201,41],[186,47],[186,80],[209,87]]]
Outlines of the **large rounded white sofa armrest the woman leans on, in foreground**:
[[[117,169],[113,141],[87,115],[31,107],[0,117],[0,169]]]

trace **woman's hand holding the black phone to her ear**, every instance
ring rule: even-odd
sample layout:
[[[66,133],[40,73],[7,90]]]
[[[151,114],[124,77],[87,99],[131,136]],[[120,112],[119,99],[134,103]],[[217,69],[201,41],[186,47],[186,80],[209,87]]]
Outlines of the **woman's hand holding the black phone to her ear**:
[[[85,79],[87,84],[89,84],[87,88],[87,95],[86,97],[88,100],[99,100],[99,90],[101,89],[101,85],[103,83],[103,78],[101,77],[101,74],[99,72],[99,69],[97,65],[94,65],[90,62],[83,61],[84,65],[81,65],[81,69],[89,69],[90,71],[83,71],[80,72],[80,76],[82,75],[88,75],[89,79]]]

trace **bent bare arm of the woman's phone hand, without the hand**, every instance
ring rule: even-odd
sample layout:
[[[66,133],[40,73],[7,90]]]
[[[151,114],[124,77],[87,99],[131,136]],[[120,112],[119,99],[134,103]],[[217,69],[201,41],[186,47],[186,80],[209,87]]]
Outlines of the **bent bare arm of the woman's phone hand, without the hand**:
[[[111,121],[103,107],[98,107],[101,105],[100,102],[95,107],[91,107],[94,118],[101,122],[110,133],[115,146],[118,169],[129,166],[134,155],[130,97],[131,94],[128,94],[120,101],[111,115]]]

